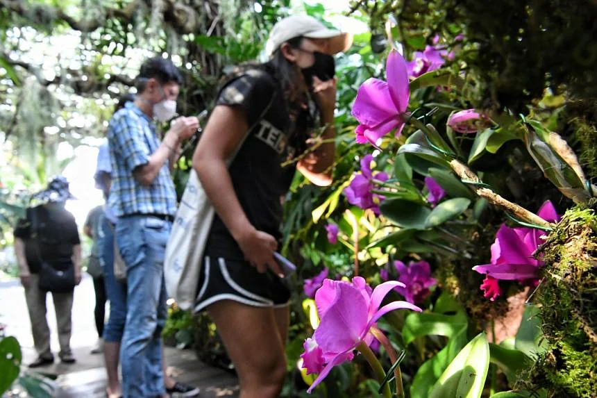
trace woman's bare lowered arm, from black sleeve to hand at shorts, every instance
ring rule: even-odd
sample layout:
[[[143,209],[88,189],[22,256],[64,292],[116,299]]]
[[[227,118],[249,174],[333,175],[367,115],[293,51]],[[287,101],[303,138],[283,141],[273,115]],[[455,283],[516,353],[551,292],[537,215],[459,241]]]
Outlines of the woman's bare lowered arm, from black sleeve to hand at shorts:
[[[276,239],[258,231],[249,222],[233,188],[226,159],[242,142],[246,131],[244,111],[239,106],[216,106],[205,126],[193,156],[195,169],[216,213],[239,244],[246,260],[259,272],[267,267],[282,274],[274,260]]]

